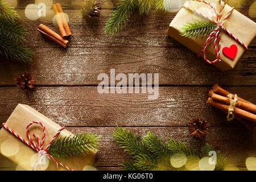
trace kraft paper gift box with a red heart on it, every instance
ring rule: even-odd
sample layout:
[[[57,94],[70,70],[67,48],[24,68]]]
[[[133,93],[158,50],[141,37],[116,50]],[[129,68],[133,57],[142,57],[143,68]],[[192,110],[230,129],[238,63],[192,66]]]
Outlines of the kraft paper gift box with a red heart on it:
[[[210,3],[212,7],[207,3]],[[187,38],[181,36],[180,31],[183,30],[182,28],[185,24],[192,23],[195,19],[209,20],[208,18],[210,18],[215,20],[215,22],[218,22],[216,13],[221,13],[222,18],[220,22],[218,22],[220,23],[221,29],[221,48],[217,51],[214,49],[215,37],[213,37],[212,41],[207,46],[205,56],[209,61],[214,61],[218,57],[216,56],[216,52],[219,52],[219,59],[221,61],[216,61],[214,66],[221,71],[227,71],[236,66],[243,53],[246,51],[246,47],[248,47],[254,39],[256,35],[256,23],[238,11],[232,10],[233,8],[226,4],[224,9],[220,11],[223,3],[224,2],[219,0],[193,0],[186,2],[172,20],[168,29],[168,35],[191,49],[193,52],[199,54],[201,49],[205,46],[205,43],[207,43],[208,35],[199,36],[198,38]],[[216,9],[216,13],[214,13],[214,9]],[[227,15],[228,18],[225,20]],[[205,18],[204,16],[207,16],[208,18]],[[222,29],[222,27],[224,28]],[[218,46],[218,42],[216,42],[216,45]],[[216,48],[218,48],[217,46]],[[200,56],[203,57],[203,54]]]

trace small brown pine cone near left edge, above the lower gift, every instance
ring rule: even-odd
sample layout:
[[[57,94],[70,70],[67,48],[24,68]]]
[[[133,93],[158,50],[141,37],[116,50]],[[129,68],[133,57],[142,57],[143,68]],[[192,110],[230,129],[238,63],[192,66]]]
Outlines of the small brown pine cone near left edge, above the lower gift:
[[[24,73],[19,73],[18,78],[15,78],[16,85],[19,88],[22,88],[23,91],[27,92],[27,90],[31,90],[34,88],[35,85],[35,78],[31,73],[24,72]]]

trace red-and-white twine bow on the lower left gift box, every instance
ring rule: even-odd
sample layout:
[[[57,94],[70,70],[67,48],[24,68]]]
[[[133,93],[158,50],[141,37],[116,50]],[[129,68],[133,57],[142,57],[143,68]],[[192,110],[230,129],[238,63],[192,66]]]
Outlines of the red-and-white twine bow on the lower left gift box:
[[[28,128],[33,125],[33,124],[39,124],[43,127],[43,137],[42,140],[40,141],[40,139],[38,138],[38,136],[36,136],[36,134],[33,134],[33,137],[35,138],[36,142],[34,142],[34,140],[32,140],[32,138],[30,137],[29,134],[29,130]],[[42,122],[39,121],[32,121],[31,123],[29,123],[26,127],[26,133],[27,133],[27,138],[30,140],[31,143],[27,142],[26,140],[24,140],[22,137],[20,137],[18,134],[16,134],[13,130],[11,130],[9,127],[5,126],[5,123],[3,123],[3,127],[5,127],[5,129],[7,131],[9,131],[11,134],[15,135],[15,137],[19,138],[20,140],[22,140],[22,142],[26,143],[28,146],[30,146],[33,150],[35,150],[36,152],[38,152],[38,160],[36,160],[36,163],[33,167],[34,171],[36,170],[38,164],[42,164],[42,160],[44,159],[44,156],[47,156],[49,159],[53,160],[53,162],[56,164],[57,169],[59,170],[59,166],[62,166],[66,169],[68,169],[69,171],[73,171],[73,169],[65,166],[64,164],[57,162],[57,160],[55,160],[53,158],[53,156],[51,154],[49,154],[47,152],[47,150],[49,149],[49,147],[51,146],[53,140],[55,140],[55,138],[57,137],[57,135],[59,135],[60,131],[65,129],[65,127],[61,127],[61,129],[59,129],[56,134],[52,137],[51,142],[49,142],[49,144],[46,146],[45,149],[43,149],[43,144],[44,144],[44,139],[46,138],[46,127],[44,127]]]

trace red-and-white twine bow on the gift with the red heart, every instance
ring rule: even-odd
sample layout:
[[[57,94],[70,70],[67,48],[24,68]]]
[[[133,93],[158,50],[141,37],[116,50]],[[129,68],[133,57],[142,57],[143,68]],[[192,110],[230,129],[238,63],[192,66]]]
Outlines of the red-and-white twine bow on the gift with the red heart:
[[[229,11],[229,13],[226,15],[226,17],[222,20],[222,11],[224,10],[226,3],[228,2],[228,0],[226,0],[225,2],[222,2],[221,0],[219,0],[221,8],[220,11],[217,13],[217,10],[215,7],[213,7],[213,5],[207,1],[204,0],[192,0],[192,1],[198,1],[198,2],[203,2],[207,5],[210,6],[211,9],[213,9],[214,13],[217,16],[217,20],[214,20],[212,18],[209,18],[208,16],[200,13],[199,11],[192,9],[191,7],[188,7],[186,5],[183,5],[183,7],[185,7],[188,10],[193,11],[194,13],[197,13],[201,16],[203,16],[204,18],[214,22],[217,24],[216,28],[209,34],[207,41],[204,44],[204,47],[201,49],[200,53],[198,56],[203,55],[204,60],[207,61],[207,63],[213,64],[213,63],[218,63],[220,62],[220,52],[221,52],[221,31],[225,30],[233,39],[235,39],[238,43],[240,43],[243,47],[245,47],[245,49],[247,50],[248,47],[242,43],[238,38],[236,38],[236,36],[234,36],[231,32],[229,32],[225,27],[224,27],[224,23],[226,22],[226,20],[229,18],[230,14],[232,13],[232,11],[234,10],[234,7],[232,7],[232,9]],[[216,55],[216,59],[214,61],[210,61],[207,59],[206,56],[206,52],[207,52],[207,48],[210,44],[210,42],[212,42],[212,40],[214,39],[214,50],[215,50],[215,55]]]

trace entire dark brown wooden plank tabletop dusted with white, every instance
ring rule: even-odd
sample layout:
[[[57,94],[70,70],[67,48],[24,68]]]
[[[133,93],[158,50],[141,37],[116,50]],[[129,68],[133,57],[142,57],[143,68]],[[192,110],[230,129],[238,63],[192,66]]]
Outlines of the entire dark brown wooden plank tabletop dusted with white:
[[[72,133],[93,132],[102,136],[97,154],[98,169],[119,169],[129,158],[112,139],[115,125],[138,135],[152,131],[163,139],[175,138],[199,148],[205,142],[220,149],[230,163],[245,169],[245,159],[256,154],[256,133],[247,131],[225,114],[206,104],[210,87],[218,83],[248,101],[256,102],[256,41],[250,44],[236,68],[220,72],[213,65],[167,36],[175,13],[147,16],[134,13],[116,36],[104,34],[110,9],[102,9],[100,18],[83,19],[81,1],[61,2],[69,16],[71,44],[64,49],[36,31],[40,23],[59,32],[51,19],[29,20],[24,8],[35,1],[18,1],[20,22],[27,27],[27,45],[35,52],[30,64],[0,61],[0,123],[10,116],[18,103],[34,107]],[[104,5],[105,1],[101,1]],[[256,22],[256,9],[236,5],[243,15]],[[251,15],[251,16],[250,16]],[[239,28],[239,27],[238,27]],[[99,94],[100,73],[159,73],[159,98],[147,94]],[[23,92],[14,78],[20,72],[36,78],[36,88]],[[112,85],[113,86],[113,85]],[[210,134],[203,140],[190,137],[186,123],[192,118],[210,122]],[[242,154],[242,155],[241,155]]]

